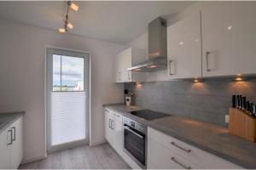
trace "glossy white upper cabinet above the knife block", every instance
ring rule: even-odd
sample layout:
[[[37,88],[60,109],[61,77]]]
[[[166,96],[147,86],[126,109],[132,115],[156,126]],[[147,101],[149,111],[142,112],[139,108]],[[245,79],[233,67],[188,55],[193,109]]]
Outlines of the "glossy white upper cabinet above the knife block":
[[[203,77],[256,73],[256,3],[201,8]]]

